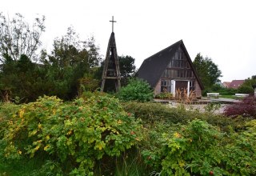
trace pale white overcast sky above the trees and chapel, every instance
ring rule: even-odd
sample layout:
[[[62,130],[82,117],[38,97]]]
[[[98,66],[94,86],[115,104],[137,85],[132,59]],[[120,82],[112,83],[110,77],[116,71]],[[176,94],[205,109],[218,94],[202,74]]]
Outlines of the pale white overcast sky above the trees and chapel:
[[[72,25],[83,40],[93,34],[105,57],[114,16],[118,55],[135,58],[137,68],[182,39],[192,61],[199,52],[212,58],[222,81],[256,74],[254,0],[1,0],[0,12],[21,13],[29,22],[45,15],[42,42],[48,50]]]

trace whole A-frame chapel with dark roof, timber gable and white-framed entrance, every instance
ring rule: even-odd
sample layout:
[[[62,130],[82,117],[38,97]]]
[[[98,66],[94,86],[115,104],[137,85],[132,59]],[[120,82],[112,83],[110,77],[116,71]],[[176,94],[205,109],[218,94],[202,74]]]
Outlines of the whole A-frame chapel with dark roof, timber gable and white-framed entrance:
[[[182,40],[146,58],[138,70],[138,78],[146,80],[154,94],[167,91],[175,96],[177,90],[182,90],[202,97],[202,82]]]

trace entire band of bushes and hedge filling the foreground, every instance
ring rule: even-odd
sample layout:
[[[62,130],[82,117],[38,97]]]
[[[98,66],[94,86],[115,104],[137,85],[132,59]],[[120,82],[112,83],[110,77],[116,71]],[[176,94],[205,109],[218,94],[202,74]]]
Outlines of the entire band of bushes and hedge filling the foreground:
[[[153,102],[122,102],[123,109],[118,99],[100,92],[82,97],[0,104],[0,169],[6,170],[2,163],[29,160],[38,165],[38,175],[256,174],[252,118]]]

